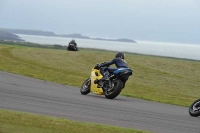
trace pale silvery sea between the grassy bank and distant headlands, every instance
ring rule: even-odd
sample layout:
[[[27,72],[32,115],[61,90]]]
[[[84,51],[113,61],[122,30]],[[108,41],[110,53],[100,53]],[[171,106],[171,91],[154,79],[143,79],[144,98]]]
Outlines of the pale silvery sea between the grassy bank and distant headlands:
[[[116,42],[116,41],[100,41],[91,39],[76,39],[65,37],[47,37],[17,34],[21,39],[44,45],[62,45],[67,46],[68,43],[74,39],[80,48],[94,48],[111,51],[123,51],[129,53],[137,53],[144,55],[155,55],[163,57],[181,58],[200,60],[200,44],[184,44],[184,43],[167,43],[167,42],[150,42],[137,41],[137,43],[130,42]]]

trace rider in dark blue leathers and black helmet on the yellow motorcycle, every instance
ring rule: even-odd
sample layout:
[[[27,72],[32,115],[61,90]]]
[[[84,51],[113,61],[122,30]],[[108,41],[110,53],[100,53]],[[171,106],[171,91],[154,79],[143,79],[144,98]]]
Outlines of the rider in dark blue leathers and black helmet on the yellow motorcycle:
[[[125,54],[123,52],[118,52],[115,55],[115,58],[111,60],[110,62],[103,63],[99,65],[99,67],[105,67],[115,64],[117,68],[128,68],[128,63],[124,60]],[[101,69],[102,70],[102,69]],[[108,79],[108,70],[102,70],[101,72],[103,74],[103,78],[101,80],[107,80]],[[125,83],[128,80],[128,78],[123,79],[123,88],[125,87]]]

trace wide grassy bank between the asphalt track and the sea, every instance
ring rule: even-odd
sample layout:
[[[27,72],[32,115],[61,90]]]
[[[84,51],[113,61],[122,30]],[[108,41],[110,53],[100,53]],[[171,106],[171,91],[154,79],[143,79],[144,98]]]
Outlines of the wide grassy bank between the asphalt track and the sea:
[[[46,49],[0,45],[0,70],[80,87],[96,63],[113,59],[115,52]],[[133,70],[122,95],[189,106],[200,96],[200,62],[126,54]],[[113,66],[115,67],[115,66]]]

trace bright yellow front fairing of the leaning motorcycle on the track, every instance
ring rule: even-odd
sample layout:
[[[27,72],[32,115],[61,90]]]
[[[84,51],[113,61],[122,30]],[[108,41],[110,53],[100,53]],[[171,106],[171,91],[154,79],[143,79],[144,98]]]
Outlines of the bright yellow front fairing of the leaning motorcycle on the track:
[[[94,94],[97,95],[103,95],[103,89],[102,88],[98,88],[98,84],[94,84],[94,81],[96,79],[100,80],[103,77],[103,75],[101,75],[100,70],[97,69],[92,69],[91,72],[91,86],[90,86],[90,91]]]

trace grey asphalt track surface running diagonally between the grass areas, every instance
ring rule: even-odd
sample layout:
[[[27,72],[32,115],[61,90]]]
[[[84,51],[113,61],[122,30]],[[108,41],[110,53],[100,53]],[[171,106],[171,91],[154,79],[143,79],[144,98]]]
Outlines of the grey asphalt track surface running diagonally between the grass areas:
[[[200,117],[191,117],[187,107],[81,95],[77,87],[1,71],[0,108],[155,133],[200,133]]]

